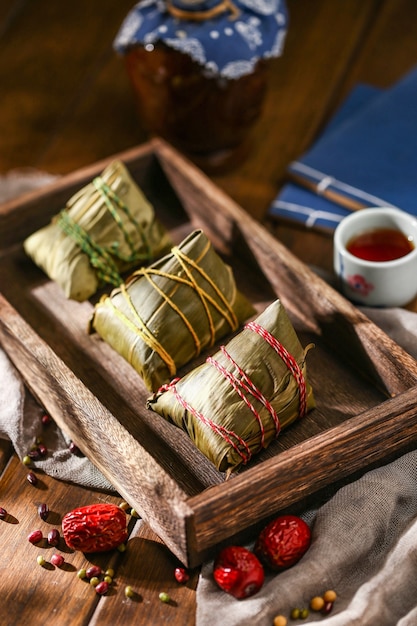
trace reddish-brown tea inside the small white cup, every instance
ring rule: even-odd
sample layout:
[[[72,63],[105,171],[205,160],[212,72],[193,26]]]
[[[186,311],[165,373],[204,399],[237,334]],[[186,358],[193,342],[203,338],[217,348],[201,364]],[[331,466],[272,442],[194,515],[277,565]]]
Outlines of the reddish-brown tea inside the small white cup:
[[[366,261],[393,261],[414,250],[413,242],[395,228],[366,231],[353,237],[346,247],[351,254]]]

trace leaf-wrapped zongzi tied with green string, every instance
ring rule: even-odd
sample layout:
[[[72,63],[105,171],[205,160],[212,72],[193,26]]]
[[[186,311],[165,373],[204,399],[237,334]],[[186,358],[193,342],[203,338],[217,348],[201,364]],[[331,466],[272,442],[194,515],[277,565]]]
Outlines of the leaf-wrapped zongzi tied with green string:
[[[114,161],[30,235],[25,252],[67,298],[82,302],[166,254],[172,241],[121,161]]]

